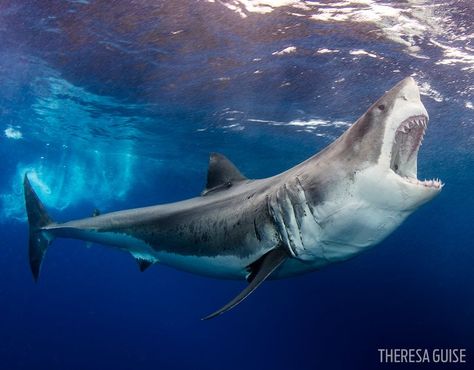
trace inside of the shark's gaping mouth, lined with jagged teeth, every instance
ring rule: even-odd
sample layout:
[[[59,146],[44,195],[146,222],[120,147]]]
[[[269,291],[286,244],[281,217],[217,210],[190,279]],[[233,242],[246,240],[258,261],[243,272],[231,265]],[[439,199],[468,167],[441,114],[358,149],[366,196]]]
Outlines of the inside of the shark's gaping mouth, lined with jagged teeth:
[[[428,118],[423,115],[412,116],[403,121],[395,133],[390,168],[406,181],[413,184],[441,188],[439,179],[420,181],[417,179],[418,150],[425,136]]]

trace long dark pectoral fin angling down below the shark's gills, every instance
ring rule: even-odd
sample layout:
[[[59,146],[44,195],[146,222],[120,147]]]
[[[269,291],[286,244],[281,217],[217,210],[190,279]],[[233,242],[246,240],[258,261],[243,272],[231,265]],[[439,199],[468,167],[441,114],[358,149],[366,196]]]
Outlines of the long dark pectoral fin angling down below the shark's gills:
[[[263,281],[269,277],[278,266],[285,262],[288,257],[288,252],[282,247],[272,249],[270,252],[265,254],[261,259],[258,260],[260,261],[259,263],[249,266],[251,269],[253,267],[258,269],[256,271],[251,271],[252,278],[249,279],[249,285],[247,285],[247,287],[242,290],[238,296],[236,296],[225,306],[204,317],[202,320],[212,319],[237,306],[240,302],[247,298],[250,293],[257,289],[257,287],[263,283]]]

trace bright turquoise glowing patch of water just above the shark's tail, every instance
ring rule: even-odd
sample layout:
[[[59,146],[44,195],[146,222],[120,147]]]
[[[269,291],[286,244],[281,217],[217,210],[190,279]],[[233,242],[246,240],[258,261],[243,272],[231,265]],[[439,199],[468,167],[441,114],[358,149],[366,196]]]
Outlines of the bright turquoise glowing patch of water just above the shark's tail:
[[[39,160],[19,164],[9,187],[0,194],[0,218],[26,219],[21,190],[26,173],[45,206],[56,210],[78,202],[107,208],[111,202],[123,199],[135,183],[133,168],[136,158],[128,153],[65,153],[58,162],[51,165]]]

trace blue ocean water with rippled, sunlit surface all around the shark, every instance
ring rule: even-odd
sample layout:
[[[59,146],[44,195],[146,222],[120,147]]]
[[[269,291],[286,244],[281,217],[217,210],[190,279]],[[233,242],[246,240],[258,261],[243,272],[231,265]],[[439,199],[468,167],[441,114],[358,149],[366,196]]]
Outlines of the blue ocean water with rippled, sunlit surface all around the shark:
[[[0,368],[371,369],[378,348],[472,367],[473,21],[470,0],[1,1]],[[57,220],[185,199],[210,152],[277,174],[409,75],[418,177],[446,186],[367,253],[206,322],[243,282],[74,240],[33,282],[25,172]]]

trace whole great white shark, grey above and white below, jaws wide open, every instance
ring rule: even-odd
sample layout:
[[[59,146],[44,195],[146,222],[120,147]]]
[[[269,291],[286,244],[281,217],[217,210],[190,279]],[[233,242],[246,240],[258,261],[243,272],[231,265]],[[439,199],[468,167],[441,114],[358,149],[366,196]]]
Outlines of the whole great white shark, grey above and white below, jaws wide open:
[[[378,244],[435,197],[440,180],[417,179],[428,123],[413,78],[378,99],[321,152],[276,176],[250,180],[212,154],[207,185],[176,203],[54,222],[28,175],[24,193],[35,280],[55,238],[129,252],[140,269],[161,263],[200,275],[248,281],[241,302],[266,278],[286,278],[352,258]]]

